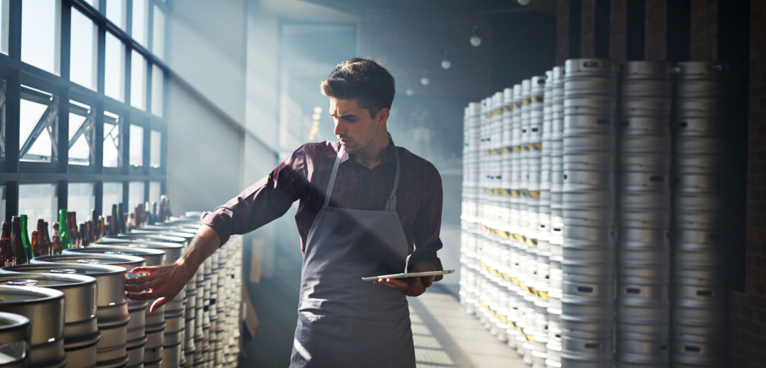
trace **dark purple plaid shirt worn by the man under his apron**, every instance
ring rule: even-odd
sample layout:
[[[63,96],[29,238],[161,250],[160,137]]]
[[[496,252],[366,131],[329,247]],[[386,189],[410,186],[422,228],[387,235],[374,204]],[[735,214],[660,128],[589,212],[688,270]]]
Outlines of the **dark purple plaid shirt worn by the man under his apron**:
[[[330,205],[349,209],[385,209],[394,184],[396,163],[394,144],[386,149],[384,162],[368,169],[343,153]],[[339,142],[306,143],[269,176],[260,179],[237,197],[213,212],[205,212],[201,223],[214,228],[221,244],[232,234],[251,232],[284,215],[300,199],[295,215],[300,248],[306,252],[306,236],[324,202],[332,165],[338,156]],[[420,261],[430,261],[442,270],[437,251],[442,247],[442,187],[437,169],[419,156],[396,147],[401,163],[396,212],[409,245],[408,269]],[[441,277],[437,277],[440,279]]]

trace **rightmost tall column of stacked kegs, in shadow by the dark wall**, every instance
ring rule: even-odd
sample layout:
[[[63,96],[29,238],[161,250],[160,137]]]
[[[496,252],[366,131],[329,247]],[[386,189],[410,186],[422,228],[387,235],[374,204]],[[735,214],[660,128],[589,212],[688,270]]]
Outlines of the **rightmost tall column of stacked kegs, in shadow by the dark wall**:
[[[674,366],[724,366],[724,71],[676,66],[671,358]]]

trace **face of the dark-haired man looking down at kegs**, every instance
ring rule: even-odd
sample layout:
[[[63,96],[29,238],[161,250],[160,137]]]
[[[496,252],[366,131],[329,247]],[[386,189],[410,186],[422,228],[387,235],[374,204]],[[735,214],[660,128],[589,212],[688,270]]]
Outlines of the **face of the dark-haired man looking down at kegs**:
[[[342,100],[330,98],[330,116],[335,121],[334,133],[348,153],[364,152],[375,141],[385,124],[384,110],[370,117],[370,111],[358,104],[358,99]]]

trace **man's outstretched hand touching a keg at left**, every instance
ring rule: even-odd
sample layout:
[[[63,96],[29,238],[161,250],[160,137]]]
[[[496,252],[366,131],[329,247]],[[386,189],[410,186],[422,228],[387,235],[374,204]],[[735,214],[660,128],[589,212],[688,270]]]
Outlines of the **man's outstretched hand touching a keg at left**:
[[[125,290],[128,297],[135,301],[148,301],[157,299],[149,307],[150,312],[162,307],[163,304],[172,301],[191,279],[196,269],[188,270],[182,260],[170,265],[153,267],[136,267],[130,270],[131,274],[145,274],[137,278],[129,278],[125,281]]]

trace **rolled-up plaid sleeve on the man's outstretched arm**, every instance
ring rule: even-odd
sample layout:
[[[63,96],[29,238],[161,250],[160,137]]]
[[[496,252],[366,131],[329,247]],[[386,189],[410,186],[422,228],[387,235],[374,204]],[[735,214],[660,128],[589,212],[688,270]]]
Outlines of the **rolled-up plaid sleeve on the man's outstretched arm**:
[[[213,228],[224,245],[231,235],[251,232],[284,215],[308,191],[306,149],[306,145],[296,149],[264,179],[214,211],[203,213],[201,224]]]

